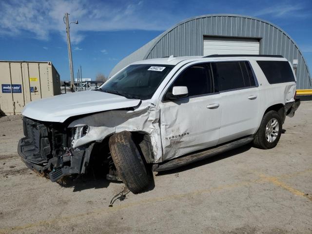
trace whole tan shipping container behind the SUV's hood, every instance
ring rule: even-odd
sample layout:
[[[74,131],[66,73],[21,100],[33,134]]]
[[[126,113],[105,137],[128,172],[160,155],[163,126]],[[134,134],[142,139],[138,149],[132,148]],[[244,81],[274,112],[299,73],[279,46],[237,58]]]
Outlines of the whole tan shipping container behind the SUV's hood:
[[[60,94],[52,62],[0,61],[0,83],[0,112],[5,115],[20,114],[28,102]]]

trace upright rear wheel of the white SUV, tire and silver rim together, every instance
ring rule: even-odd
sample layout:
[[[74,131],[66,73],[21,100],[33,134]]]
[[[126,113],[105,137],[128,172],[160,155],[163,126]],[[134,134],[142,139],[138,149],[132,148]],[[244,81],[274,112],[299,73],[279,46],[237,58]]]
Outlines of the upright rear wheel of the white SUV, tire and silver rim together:
[[[264,114],[260,127],[254,135],[254,146],[260,149],[274,148],[282,133],[282,120],[276,111]]]

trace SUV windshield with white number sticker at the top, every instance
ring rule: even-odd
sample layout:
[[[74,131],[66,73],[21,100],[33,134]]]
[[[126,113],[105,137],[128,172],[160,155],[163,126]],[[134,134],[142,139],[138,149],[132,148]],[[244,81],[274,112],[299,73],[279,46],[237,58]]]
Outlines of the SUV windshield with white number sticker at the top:
[[[99,91],[126,98],[150,99],[173,65],[130,65],[105,82]]]

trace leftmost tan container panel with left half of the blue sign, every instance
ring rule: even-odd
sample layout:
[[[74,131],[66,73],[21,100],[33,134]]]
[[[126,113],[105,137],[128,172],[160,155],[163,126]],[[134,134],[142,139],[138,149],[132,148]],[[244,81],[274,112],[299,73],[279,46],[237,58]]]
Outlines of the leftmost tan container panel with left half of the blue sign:
[[[6,115],[14,114],[13,96],[11,92],[11,78],[9,62],[0,62],[0,110]]]

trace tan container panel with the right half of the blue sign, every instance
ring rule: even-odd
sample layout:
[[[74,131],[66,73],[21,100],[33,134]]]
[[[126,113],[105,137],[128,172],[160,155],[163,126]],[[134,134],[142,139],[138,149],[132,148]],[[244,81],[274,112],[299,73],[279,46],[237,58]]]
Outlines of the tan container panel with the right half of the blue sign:
[[[21,74],[20,62],[11,62],[11,80],[13,91],[13,105],[15,108],[15,114],[20,114],[25,106],[23,79]]]

